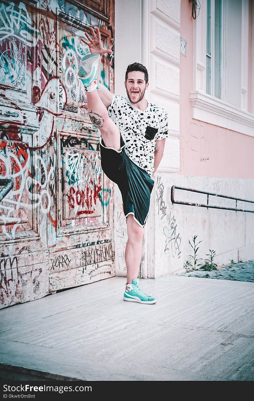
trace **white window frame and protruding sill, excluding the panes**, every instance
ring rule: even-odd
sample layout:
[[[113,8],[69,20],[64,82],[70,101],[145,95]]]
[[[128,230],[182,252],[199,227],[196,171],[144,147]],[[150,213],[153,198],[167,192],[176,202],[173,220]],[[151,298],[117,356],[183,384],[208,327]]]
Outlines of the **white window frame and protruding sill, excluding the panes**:
[[[225,43],[225,10],[226,1],[222,7],[222,43]],[[222,99],[208,95],[206,93],[206,0],[200,0],[201,9],[199,16],[194,21],[193,29],[193,91],[190,93],[192,105],[192,117],[194,119],[207,122],[216,126],[227,128],[242,134],[254,137],[254,83],[252,88],[252,113],[246,111],[248,105],[248,0],[242,0],[242,74],[241,74],[241,108],[238,108],[225,99],[225,74],[226,65],[222,61],[221,79]],[[254,14],[252,24],[254,23]],[[225,45],[221,53],[225,54]],[[253,54],[253,53],[252,53]],[[248,57],[248,56],[247,56]],[[253,77],[252,77],[253,81]]]

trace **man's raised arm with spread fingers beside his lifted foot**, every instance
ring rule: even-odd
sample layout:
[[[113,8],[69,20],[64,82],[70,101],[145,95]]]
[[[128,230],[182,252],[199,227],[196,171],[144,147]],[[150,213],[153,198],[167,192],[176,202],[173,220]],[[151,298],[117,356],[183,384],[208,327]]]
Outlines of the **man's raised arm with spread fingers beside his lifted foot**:
[[[96,32],[94,31],[93,28],[90,28],[90,30],[91,30],[92,37],[90,37],[89,34],[87,32],[85,32],[87,41],[85,41],[85,39],[82,39],[82,41],[89,47],[90,53],[100,54],[100,56],[101,56],[100,61],[101,61],[102,56],[105,53],[113,53],[113,52],[112,52],[112,50],[104,49],[104,47],[102,46],[102,40],[101,40],[99,28],[96,28]],[[100,70],[100,64],[99,64],[98,77],[97,77],[97,85],[99,87],[98,94],[102,100],[102,103],[108,109],[110,103],[112,102],[112,93],[110,93],[110,91],[104,85],[100,84],[100,72],[101,72],[101,70]]]

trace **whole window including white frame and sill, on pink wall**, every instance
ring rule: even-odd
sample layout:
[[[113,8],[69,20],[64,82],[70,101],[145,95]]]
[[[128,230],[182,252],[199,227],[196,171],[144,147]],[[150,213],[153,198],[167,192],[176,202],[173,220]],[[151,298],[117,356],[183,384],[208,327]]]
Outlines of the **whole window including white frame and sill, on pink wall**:
[[[254,136],[249,0],[199,1],[193,21],[192,117]]]

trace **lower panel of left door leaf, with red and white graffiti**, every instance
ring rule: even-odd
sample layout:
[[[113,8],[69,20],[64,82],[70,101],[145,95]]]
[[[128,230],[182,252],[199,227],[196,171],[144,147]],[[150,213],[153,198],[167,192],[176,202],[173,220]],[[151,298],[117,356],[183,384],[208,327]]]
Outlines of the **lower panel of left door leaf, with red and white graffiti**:
[[[39,237],[41,207],[45,206],[42,187],[47,168],[34,151],[38,128],[14,125],[0,127],[0,176],[14,182],[0,203],[0,241]],[[35,177],[36,176],[36,177]]]

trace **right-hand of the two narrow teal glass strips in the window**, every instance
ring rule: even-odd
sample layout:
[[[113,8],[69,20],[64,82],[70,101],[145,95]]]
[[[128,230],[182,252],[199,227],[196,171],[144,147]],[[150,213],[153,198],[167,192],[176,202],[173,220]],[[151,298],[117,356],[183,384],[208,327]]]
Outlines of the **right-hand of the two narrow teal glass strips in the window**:
[[[221,0],[214,0],[214,96],[221,98]]]

